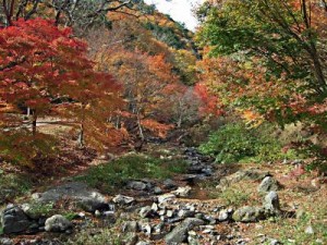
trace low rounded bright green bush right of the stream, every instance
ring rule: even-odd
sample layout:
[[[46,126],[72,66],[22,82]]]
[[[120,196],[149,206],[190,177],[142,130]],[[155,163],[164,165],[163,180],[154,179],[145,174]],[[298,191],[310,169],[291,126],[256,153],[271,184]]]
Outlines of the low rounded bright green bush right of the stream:
[[[293,159],[292,150],[282,151],[282,144],[274,135],[274,127],[264,124],[247,128],[243,123],[228,123],[210,134],[201,152],[210,155],[219,163],[264,162]]]

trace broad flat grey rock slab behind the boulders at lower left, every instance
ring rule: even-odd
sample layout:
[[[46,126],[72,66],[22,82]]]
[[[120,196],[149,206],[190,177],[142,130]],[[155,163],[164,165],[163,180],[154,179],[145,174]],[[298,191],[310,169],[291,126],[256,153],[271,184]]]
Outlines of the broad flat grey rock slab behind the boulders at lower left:
[[[81,182],[71,182],[59,185],[45,193],[33,194],[32,198],[43,204],[55,204],[62,199],[72,200],[88,212],[94,212],[97,209],[106,209],[108,206],[104,195]]]

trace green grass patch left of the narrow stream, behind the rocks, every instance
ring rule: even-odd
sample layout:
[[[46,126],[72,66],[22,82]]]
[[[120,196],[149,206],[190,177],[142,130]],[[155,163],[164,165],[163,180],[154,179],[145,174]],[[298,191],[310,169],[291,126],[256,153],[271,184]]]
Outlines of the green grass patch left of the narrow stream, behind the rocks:
[[[126,155],[112,162],[90,168],[86,175],[77,181],[105,192],[125,184],[129,180],[167,179],[173,173],[185,171],[187,163],[182,159],[158,159],[145,155]]]

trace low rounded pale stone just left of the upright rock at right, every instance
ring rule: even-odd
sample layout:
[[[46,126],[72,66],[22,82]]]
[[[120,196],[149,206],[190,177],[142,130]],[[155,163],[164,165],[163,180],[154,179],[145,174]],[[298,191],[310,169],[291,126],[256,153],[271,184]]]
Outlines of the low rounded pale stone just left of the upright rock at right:
[[[232,219],[237,222],[255,222],[265,219],[265,210],[258,207],[244,206],[234,211]]]

